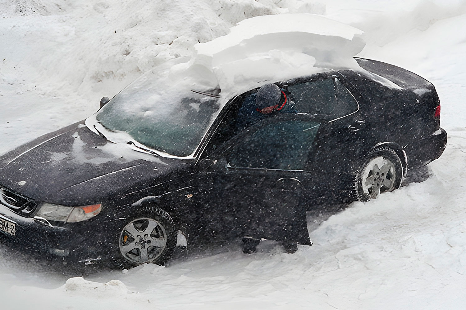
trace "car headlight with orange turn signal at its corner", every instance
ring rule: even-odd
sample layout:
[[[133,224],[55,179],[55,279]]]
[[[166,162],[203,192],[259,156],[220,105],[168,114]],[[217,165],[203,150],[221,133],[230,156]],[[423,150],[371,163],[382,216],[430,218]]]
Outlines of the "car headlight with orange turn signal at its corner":
[[[84,205],[82,207],[68,207],[60,204],[42,203],[35,214],[37,217],[49,221],[75,223],[95,217],[101,211],[101,204]]]

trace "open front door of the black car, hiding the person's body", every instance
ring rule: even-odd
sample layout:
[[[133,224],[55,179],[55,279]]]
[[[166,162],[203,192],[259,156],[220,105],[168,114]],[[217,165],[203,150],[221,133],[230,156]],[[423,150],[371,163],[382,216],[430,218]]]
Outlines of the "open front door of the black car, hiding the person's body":
[[[209,209],[234,222],[233,227],[228,220],[222,223],[228,231],[308,243],[306,209],[308,197],[315,196],[309,195],[308,185],[319,183],[313,182],[311,164],[320,123],[308,115],[283,112],[260,117],[246,128],[238,126],[243,121],[240,108],[251,95],[254,90],[233,103],[210,139],[200,163],[207,168],[199,171],[204,180],[199,186],[217,198],[209,199],[215,204]]]

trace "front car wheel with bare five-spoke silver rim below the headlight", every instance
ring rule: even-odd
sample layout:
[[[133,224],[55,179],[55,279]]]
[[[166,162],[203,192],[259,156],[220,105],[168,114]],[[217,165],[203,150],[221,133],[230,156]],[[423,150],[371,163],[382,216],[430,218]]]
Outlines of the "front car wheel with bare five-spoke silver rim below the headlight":
[[[144,263],[164,265],[177,243],[173,219],[164,210],[146,206],[127,218],[119,229],[117,261],[113,267],[131,268]]]

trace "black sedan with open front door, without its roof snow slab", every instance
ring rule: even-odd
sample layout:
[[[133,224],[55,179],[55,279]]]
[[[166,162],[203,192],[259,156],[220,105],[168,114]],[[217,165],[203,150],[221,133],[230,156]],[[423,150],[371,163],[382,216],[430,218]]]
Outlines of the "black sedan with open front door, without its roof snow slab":
[[[245,237],[246,252],[261,238],[310,244],[306,211],[398,189],[446,145],[431,83],[356,60],[366,71],[231,99],[198,73],[181,84],[144,75],[89,119],[0,158],[3,237],[119,266],[163,264],[183,237]]]

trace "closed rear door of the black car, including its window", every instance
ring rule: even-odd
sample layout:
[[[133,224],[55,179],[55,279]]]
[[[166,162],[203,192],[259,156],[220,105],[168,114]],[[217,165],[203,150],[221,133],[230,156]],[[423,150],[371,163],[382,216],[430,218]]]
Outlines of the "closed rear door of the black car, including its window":
[[[315,139],[314,169],[325,176],[322,191],[323,200],[327,201],[341,201],[351,194],[352,163],[360,152],[359,133],[365,125],[355,96],[345,86],[347,83],[336,72],[282,83],[298,113],[321,121]]]

